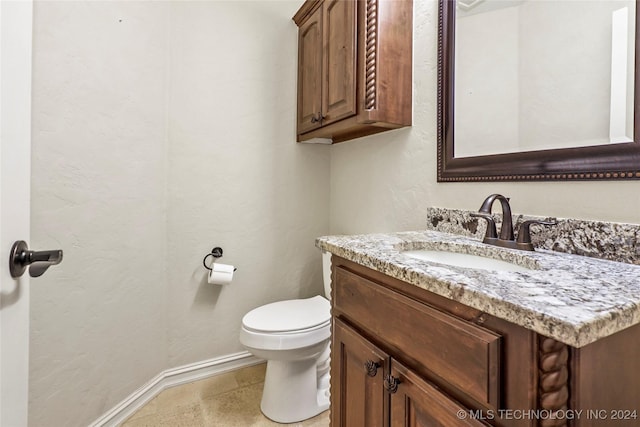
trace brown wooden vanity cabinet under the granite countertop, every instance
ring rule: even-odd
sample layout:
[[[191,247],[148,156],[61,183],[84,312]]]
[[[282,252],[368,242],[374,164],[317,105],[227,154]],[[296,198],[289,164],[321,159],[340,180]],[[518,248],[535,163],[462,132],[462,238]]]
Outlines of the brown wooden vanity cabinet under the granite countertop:
[[[571,348],[332,261],[332,427],[640,424],[640,328]]]

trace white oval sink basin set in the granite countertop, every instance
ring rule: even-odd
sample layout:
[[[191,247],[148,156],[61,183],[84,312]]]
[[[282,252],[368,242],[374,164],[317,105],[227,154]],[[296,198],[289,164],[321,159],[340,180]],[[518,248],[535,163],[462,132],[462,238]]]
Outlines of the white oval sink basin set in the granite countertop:
[[[487,258],[481,255],[461,254],[448,251],[414,250],[403,251],[402,254],[423,261],[437,262],[439,264],[455,267],[476,268],[488,271],[516,271],[520,273],[532,271],[530,268],[513,264],[499,259]]]

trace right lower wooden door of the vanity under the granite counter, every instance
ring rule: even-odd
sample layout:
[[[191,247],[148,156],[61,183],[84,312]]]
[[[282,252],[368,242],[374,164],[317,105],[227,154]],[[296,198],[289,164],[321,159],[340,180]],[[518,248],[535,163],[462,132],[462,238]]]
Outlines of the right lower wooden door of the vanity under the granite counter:
[[[391,427],[483,427],[472,413],[396,360],[385,382],[391,395]]]

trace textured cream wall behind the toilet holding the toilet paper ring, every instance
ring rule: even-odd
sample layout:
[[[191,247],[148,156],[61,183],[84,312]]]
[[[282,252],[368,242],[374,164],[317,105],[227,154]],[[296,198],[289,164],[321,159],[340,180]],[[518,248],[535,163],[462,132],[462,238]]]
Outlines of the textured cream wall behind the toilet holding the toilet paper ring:
[[[169,365],[241,351],[242,316],[322,291],[329,147],[295,143],[299,1],[171,3]],[[206,284],[224,249],[234,283]]]

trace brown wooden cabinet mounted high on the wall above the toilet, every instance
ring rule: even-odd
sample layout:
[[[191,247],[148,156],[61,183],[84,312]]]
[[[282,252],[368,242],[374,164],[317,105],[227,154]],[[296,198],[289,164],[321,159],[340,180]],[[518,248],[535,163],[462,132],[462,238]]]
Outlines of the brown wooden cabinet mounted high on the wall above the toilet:
[[[411,0],[307,0],[298,31],[298,141],[411,125]]]

